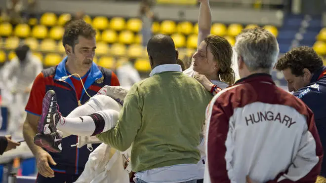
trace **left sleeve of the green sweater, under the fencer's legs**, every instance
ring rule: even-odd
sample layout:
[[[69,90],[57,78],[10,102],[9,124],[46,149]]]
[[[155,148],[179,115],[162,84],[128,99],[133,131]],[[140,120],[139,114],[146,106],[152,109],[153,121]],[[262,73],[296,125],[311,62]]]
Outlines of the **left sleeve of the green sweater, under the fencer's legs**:
[[[96,137],[120,151],[131,146],[142,123],[142,98],[138,94],[138,85],[133,85],[125,97],[119,120],[115,128]]]

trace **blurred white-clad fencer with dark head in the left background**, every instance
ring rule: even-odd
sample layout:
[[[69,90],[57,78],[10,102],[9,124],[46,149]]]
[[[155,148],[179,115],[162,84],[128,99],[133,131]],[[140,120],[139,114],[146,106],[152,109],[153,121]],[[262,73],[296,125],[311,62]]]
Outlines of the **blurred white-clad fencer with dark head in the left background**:
[[[8,103],[10,115],[7,131],[13,136],[22,137],[24,107],[27,104],[33,81],[42,71],[43,66],[40,59],[32,55],[28,45],[18,46],[15,53],[17,56],[6,64],[2,72],[2,84],[3,90],[11,95],[9,96],[11,101]]]

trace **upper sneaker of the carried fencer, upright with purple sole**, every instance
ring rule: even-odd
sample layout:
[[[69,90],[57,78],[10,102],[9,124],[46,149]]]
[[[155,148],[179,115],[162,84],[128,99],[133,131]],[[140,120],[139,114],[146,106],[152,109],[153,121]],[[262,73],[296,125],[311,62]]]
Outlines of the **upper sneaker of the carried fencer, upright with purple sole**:
[[[53,90],[47,91],[43,98],[42,115],[38,122],[39,133],[48,135],[56,132],[56,126],[61,120],[61,116],[55,92]]]

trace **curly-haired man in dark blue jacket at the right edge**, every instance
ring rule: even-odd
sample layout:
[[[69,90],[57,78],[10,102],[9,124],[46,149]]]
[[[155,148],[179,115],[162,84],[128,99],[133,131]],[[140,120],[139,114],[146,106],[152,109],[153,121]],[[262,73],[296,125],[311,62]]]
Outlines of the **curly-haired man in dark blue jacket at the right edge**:
[[[287,87],[315,114],[316,127],[326,150],[326,67],[317,53],[308,46],[293,48],[278,60],[276,69],[282,71]],[[321,176],[326,177],[326,159]]]

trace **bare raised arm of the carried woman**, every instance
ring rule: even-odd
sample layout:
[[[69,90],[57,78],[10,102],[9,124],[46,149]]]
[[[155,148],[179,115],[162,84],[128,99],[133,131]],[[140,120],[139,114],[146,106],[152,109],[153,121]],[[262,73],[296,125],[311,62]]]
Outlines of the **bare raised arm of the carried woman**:
[[[199,44],[210,34],[212,14],[209,6],[209,0],[198,0],[201,2],[198,17],[198,43]]]

